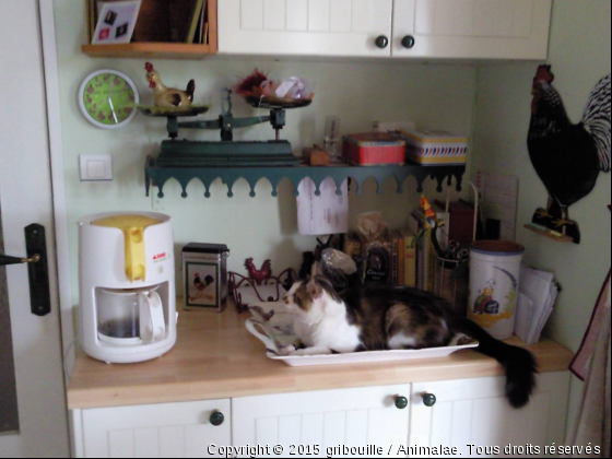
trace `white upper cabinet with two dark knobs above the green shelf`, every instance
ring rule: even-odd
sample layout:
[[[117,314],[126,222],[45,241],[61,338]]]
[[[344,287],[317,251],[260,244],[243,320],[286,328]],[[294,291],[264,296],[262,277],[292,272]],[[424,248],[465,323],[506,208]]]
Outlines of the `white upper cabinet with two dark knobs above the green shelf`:
[[[552,0],[222,0],[219,52],[545,59]],[[377,46],[377,38],[387,38]]]

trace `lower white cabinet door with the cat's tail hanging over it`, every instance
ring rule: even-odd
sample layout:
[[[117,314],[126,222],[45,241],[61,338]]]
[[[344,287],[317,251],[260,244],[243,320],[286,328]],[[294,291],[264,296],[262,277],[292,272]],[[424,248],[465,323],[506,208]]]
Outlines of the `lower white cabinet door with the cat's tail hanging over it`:
[[[564,445],[569,372],[540,375],[536,393],[520,410],[506,400],[505,385],[505,377],[414,384],[410,456],[449,457],[422,449],[446,446],[458,449],[450,457],[543,457],[546,445]],[[427,407],[432,395],[435,404]],[[540,450],[527,449],[530,445]],[[508,446],[518,449],[505,450]]]

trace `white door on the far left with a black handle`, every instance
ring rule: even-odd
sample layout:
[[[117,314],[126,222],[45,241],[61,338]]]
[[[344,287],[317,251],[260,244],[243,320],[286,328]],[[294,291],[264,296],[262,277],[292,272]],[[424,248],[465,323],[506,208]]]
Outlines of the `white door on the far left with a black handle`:
[[[0,417],[8,420],[0,425],[0,457],[66,457],[68,423],[38,1],[0,1],[0,24],[1,254],[24,257],[24,228],[43,225],[51,297],[50,314],[33,315],[27,267],[0,268],[0,387],[9,388],[0,393]],[[10,352],[4,348],[9,341]],[[11,407],[9,414],[4,407]]]

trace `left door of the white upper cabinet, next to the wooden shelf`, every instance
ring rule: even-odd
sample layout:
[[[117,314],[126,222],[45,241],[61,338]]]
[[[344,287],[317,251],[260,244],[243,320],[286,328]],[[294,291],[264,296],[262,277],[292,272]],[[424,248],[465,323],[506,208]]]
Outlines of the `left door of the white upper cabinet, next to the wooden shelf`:
[[[219,52],[391,56],[393,0],[223,0]]]

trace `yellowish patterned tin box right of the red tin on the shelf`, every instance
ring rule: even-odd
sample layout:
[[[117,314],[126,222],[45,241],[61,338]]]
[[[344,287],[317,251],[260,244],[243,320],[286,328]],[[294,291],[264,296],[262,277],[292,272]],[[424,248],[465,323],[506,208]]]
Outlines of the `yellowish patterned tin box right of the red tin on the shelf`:
[[[464,165],[470,139],[445,131],[400,131],[405,140],[405,157],[424,166]]]

